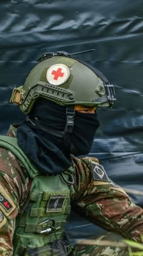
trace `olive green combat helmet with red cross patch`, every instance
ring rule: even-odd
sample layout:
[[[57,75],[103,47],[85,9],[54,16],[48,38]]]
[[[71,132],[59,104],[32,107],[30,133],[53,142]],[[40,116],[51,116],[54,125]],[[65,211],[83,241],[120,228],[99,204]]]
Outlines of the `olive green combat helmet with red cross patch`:
[[[111,107],[115,100],[113,85],[93,66],[64,52],[44,54],[28,74],[25,84],[15,88],[10,102],[30,113],[39,98],[59,105]]]

